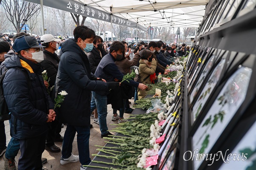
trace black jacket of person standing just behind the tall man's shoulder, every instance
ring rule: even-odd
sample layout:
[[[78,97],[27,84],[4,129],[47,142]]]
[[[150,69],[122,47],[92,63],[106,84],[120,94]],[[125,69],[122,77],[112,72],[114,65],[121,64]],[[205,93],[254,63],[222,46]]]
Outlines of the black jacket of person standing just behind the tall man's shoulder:
[[[102,57],[104,57],[105,55],[107,55],[108,53],[105,50],[100,50]],[[99,51],[97,50],[97,48],[93,47],[93,50],[88,52],[88,59],[90,62],[90,66],[91,66],[91,72],[94,74],[96,71],[97,66],[99,65],[100,60],[102,59],[102,57],[100,57]]]

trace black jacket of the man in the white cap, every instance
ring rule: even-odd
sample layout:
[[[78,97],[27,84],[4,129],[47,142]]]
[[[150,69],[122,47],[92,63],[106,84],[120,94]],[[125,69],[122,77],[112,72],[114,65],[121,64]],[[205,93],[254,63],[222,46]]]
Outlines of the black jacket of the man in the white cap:
[[[49,81],[49,88],[51,88],[55,84],[55,79],[58,73],[58,63],[60,59],[56,53],[51,53],[45,49],[44,51],[44,61],[41,62],[44,69],[47,71],[47,76]],[[50,96],[52,95],[52,91],[50,92]]]

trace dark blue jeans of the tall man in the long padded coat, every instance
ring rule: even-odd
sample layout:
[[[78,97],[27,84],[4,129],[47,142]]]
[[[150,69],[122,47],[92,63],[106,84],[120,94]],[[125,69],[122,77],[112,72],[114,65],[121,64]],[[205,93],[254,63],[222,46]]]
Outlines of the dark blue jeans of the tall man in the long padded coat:
[[[63,144],[62,144],[62,158],[67,159],[71,156],[72,144],[77,132],[77,147],[79,153],[79,161],[82,165],[90,164],[90,127],[67,125]]]

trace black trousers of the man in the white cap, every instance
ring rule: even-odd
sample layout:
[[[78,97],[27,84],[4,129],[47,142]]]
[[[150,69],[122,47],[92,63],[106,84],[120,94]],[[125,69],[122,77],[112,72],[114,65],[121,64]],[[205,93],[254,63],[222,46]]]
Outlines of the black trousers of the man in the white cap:
[[[55,119],[55,121],[48,122],[48,131],[46,137],[46,144],[48,147],[54,145],[55,138],[61,137],[61,122]]]

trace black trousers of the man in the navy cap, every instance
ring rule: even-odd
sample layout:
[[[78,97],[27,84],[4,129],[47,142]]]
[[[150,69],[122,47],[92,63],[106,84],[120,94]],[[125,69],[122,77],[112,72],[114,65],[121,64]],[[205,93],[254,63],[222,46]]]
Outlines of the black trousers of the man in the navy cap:
[[[42,170],[42,153],[45,148],[47,132],[40,136],[20,141],[20,159],[18,162],[19,170]]]

